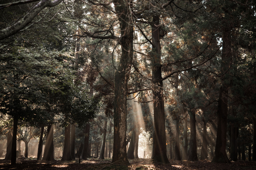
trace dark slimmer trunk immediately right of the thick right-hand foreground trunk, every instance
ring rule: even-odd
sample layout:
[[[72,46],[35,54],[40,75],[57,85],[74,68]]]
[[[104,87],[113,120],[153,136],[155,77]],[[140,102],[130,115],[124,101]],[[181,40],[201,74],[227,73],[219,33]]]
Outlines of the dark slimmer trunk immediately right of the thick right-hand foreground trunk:
[[[231,107],[231,115],[233,118],[236,116],[236,112]],[[230,126],[230,161],[237,161],[237,126],[235,123],[231,123]]]

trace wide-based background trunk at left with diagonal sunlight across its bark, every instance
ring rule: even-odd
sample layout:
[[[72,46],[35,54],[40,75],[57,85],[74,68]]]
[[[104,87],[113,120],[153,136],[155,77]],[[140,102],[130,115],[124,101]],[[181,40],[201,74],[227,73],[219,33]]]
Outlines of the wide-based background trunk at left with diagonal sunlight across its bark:
[[[53,125],[47,126],[47,136],[44,150],[44,161],[54,161]]]

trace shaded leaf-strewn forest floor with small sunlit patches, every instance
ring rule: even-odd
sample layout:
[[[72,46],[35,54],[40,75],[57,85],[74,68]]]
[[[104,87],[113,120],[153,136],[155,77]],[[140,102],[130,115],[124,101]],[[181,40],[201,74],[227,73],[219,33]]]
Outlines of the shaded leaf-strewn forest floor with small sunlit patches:
[[[78,160],[74,161],[60,161],[60,159],[56,159],[54,162],[41,162],[37,161],[36,158],[27,158],[25,160],[17,160],[16,165],[10,165],[10,161],[4,161],[0,159],[0,170],[2,169],[88,169],[88,170],[143,170],[143,169],[227,169],[227,170],[236,170],[236,169],[256,169],[255,161],[238,161],[231,162],[230,164],[223,163],[211,163],[209,160],[203,161],[174,161],[170,160],[170,164],[156,164],[150,163],[150,159],[133,159],[129,160],[131,166],[125,167],[120,165],[115,165],[111,163],[111,159],[98,160],[98,159],[88,159],[81,160],[81,163],[78,163]]]

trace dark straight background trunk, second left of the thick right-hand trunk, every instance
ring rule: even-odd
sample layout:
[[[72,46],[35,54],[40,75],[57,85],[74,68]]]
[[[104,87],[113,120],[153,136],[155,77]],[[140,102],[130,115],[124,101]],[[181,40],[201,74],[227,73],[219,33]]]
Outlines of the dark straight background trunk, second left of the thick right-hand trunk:
[[[190,114],[190,149],[188,160],[198,161],[197,158],[197,145],[196,145],[196,110],[191,111]]]

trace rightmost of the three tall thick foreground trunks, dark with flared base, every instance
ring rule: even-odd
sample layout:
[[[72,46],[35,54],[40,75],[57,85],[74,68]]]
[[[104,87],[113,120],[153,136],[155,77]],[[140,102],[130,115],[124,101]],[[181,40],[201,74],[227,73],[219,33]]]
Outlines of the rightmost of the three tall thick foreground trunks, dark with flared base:
[[[231,61],[231,28],[226,28],[223,31],[222,38],[222,59],[221,59],[221,77],[219,101],[218,101],[218,126],[217,126],[217,137],[214,158],[212,162],[214,163],[229,163],[228,156],[226,153],[226,142],[227,142],[227,115],[228,115],[228,87],[226,83],[227,71],[230,67]],[[225,80],[225,81],[224,81]]]

